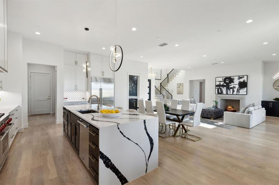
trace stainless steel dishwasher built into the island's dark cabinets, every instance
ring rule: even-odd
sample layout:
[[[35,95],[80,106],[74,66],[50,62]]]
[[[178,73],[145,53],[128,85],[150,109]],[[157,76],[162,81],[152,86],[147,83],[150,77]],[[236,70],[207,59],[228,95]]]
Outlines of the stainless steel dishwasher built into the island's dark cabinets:
[[[77,120],[77,122],[80,124],[80,158],[85,164],[86,168],[89,167],[89,124],[86,123],[83,120]]]

